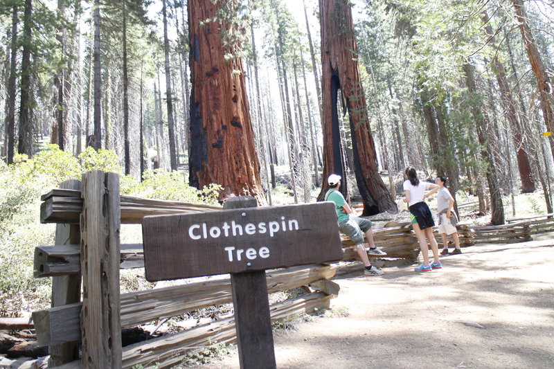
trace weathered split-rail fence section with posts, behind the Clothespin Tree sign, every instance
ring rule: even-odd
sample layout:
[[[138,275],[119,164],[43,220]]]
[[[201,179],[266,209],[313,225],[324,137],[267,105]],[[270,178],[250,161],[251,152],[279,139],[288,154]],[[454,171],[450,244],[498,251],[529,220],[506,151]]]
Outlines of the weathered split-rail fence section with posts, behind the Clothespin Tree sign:
[[[53,307],[33,313],[37,341],[51,352],[49,366],[132,368],[159,362],[168,368],[191,348],[235,340],[233,317],[125,348],[120,339],[123,328],[233,300],[229,278],[120,294],[119,270],[144,267],[143,245],[121,245],[120,224],[220,206],[120,196],[118,176],[100,171],[63,187],[42,196],[41,221],[57,224],[55,246],[35,249],[35,277],[53,278]],[[271,305],[271,320],[328,307],[339,291],[329,280],[335,271],[321,264],[267,271],[268,293],[311,287],[310,293]]]

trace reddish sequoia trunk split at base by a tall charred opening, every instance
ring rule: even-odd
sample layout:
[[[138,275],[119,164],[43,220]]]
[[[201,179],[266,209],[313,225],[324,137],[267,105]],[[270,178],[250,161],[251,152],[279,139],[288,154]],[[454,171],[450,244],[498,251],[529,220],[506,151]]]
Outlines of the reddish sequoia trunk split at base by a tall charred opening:
[[[323,100],[323,178],[340,174],[346,185],[344,148],[341,147],[337,93],[341,89],[343,107],[348,109],[354,170],[361,198],[363,215],[383,211],[397,212],[397,206],[377,172],[375,144],[371,136],[366,100],[361,87],[357,46],[353,37],[352,12],[347,1],[319,1],[321,15],[321,65]],[[343,186],[346,190],[346,186]],[[321,188],[319,199],[328,190]]]

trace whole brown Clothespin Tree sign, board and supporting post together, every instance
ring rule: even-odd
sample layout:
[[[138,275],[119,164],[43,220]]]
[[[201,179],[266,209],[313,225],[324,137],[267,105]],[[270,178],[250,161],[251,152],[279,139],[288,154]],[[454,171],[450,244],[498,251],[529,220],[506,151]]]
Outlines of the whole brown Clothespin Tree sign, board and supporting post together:
[[[240,368],[276,368],[266,269],[341,260],[334,205],[256,208],[232,197],[224,210],[143,219],[150,282],[231,273]]]

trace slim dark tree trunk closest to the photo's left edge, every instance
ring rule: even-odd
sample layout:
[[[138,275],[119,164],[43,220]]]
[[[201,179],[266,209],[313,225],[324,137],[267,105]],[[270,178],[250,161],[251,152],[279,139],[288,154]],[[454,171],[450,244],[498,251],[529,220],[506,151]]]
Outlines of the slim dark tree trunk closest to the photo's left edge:
[[[17,6],[12,11],[12,42],[10,45],[10,76],[6,95],[6,141],[8,164],[13,163],[15,151],[15,94],[16,94],[16,66],[17,66]]]

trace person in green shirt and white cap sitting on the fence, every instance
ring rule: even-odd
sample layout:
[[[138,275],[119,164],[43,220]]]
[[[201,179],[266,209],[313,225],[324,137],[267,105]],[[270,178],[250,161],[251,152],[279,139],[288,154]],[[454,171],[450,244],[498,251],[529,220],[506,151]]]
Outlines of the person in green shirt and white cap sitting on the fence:
[[[364,275],[366,276],[381,276],[384,272],[381,269],[373,267],[369,262],[368,254],[364,246],[364,233],[369,244],[370,255],[386,255],[380,249],[375,247],[373,242],[373,231],[371,230],[371,221],[360,217],[351,216],[352,209],[346,203],[339,188],[341,188],[341,176],[338,174],[331,174],[327,179],[330,189],[325,194],[325,201],[333,201],[335,210],[337,210],[337,222],[339,222],[339,229],[345,235],[348,235],[352,242],[356,245],[361,261],[364,262]]]

